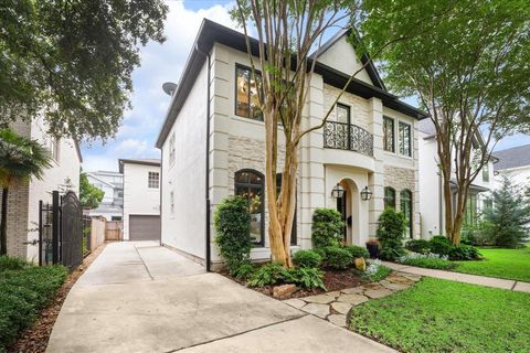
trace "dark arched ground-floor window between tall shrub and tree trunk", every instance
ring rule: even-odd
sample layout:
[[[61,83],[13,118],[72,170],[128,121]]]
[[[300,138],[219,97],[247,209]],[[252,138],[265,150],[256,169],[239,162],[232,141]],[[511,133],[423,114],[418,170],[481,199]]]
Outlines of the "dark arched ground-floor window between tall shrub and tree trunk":
[[[256,245],[264,244],[265,216],[264,205],[264,180],[262,173],[243,169],[235,173],[235,194],[246,197],[251,212],[251,238]]]

